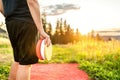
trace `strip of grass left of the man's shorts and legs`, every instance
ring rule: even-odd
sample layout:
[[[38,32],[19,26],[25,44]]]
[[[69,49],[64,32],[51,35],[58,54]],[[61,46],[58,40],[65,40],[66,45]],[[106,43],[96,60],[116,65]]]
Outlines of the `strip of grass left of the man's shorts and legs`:
[[[12,60],[12,48],[9,40],[0,38],[0,80],[8,80]]]

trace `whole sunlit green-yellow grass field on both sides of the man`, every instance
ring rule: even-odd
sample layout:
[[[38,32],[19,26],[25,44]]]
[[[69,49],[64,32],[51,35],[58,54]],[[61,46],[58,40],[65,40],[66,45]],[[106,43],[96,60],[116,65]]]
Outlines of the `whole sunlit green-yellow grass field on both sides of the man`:
[[[9,40],[0,38],[0,80],[7,80],[13,61]],[[120,80],[120,41],[82,40],[75,44],[53,45],[50,61],[39,63],[78,63],[91,80]]]

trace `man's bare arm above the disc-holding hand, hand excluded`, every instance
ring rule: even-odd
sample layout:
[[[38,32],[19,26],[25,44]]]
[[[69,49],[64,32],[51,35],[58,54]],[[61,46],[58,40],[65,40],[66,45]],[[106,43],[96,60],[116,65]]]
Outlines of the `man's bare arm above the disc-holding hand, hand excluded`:
[[[40,7],[39,7],[39,3],[37,0],[27,0],[28,3],[28,7],[30,10],[30,13],[32,15],[32,18],[39,30],[39,32],[43,32],[43,25],[42,25],[42,19],[41,19],[41,15],[40,15]]]

